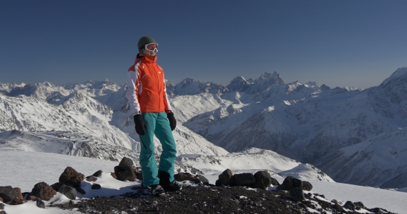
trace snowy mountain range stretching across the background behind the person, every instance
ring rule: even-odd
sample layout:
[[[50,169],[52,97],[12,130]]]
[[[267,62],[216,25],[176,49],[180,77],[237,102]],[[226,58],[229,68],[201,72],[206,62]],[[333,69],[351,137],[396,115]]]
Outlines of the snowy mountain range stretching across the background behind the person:
[[[125,91],[126,85],[108,80],[0,83],[0,149],[105,160],[128,156],[137,163],[139,138]],[[365,90],[284,83],[277,72],[266,72],[255,81],[234,78],[226,87],[190,78],[176,85],[167,81],[167,91],[179,123],[173,132],[179,169],[199,171],[197,157],[224,169],[231,167],[225,164],[230,158],[250,160],[256,153],[260,159],[279,155],[277,159],[292,160],[292,168],[265,166],[275,173],[313,171],[310,177],[317,180],[407,186],[402,179],[407,174],[406,138],[400,134],[407,127],[406,67]],[[390,148],[386,152],[384,144]],[[366,176],[357,173],[360,169]]]

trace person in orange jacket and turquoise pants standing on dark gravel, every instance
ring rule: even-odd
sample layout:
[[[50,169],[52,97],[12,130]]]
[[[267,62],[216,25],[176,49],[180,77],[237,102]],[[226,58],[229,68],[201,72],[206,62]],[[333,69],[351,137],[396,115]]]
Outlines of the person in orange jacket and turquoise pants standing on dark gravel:
[[[174,179],[177,149],[172,130],[177,126],[177,120],[168,101],[163,69],[155,63],[158,44],[152,37],[143,36],[137,47],[139,54],[135,64],[128,69],[126,98],[141,142],[143,186],[148,187],[151,195],[159,195],[181,189]],[[155,162],[154,135],[163,148],[159,167]]]

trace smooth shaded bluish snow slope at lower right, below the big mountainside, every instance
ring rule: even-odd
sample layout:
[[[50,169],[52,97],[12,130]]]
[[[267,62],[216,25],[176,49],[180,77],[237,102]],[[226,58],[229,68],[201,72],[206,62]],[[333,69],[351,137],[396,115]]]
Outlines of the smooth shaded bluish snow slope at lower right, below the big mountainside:
[[[315,163],[335,180],[349,184],[407,186],[407,127],[381,133],[356,145],[327,153]]]

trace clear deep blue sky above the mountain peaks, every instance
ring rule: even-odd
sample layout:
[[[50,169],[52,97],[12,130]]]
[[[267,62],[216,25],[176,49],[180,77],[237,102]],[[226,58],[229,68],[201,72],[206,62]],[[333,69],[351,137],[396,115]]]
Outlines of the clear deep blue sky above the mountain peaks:
[[[0,83],[126,82],[141,36],[166,78],[277,72],[379,85],[407,67],[407,1],[0,1]]]

